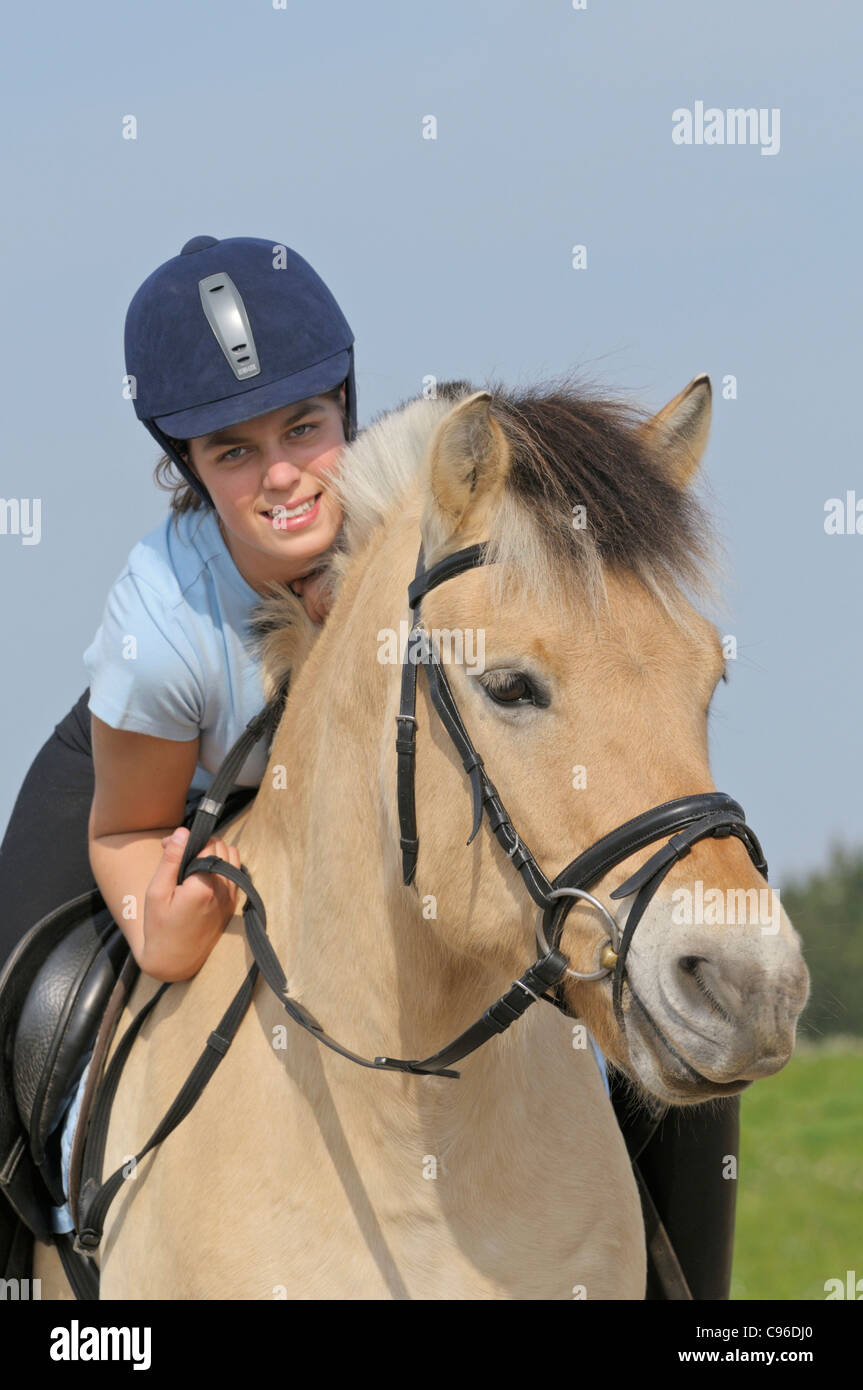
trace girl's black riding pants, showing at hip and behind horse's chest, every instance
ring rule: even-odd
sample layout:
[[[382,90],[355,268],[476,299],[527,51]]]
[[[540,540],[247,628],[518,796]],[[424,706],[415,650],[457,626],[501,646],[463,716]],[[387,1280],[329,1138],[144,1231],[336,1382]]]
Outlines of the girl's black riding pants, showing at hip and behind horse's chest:
[[[0,847],[0,966],[36,922],[94,887],[88,699],[85,691],[36,755]],[[738,1116],[737,1098],[670,1111],[638,1161],[695,1298],[728,1297]],[[661,1297],[653,1279],[648,1297]]]

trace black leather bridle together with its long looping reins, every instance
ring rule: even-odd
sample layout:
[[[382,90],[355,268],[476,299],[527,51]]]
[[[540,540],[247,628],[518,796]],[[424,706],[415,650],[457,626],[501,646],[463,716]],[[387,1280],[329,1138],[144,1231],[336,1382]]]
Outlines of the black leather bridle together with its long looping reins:
[[[264,977],[270,990],[275,994],[282,1008],[296,1024],[317,1038],[324,1047],[331,1048],[340,1056],[347,1058],[357,1066],[375,1070],[407,1072],[413,1076],[445,1076],[457,1079],[460,1073],[453,1069],[456,1062],[468,1056],[492,1037],[506,1031],[517,1019],[523,1017],[532,1004],[539,999],[553,1004],[568,1013],[560,991],[566,974],[580,980],[599,980],[613,974],[613,1002],[614,1012],[621,1030],[624,1019],[621,1012],[623,983],[625,960],[632,941],[632,934],[642,919],[653,894],[663,881],[673,865],[689,852],[699,840],[709,837],[737,835],[757,869],[764,877],[767,865],[762,847],[746,824],[742,808],[723,792],[706,792],[693,796],[682,796],[677,801],[655,806],[652,810],[635,816],[617,830],[610,831],[596,844],[591,845],[575,859],[561,869],[556,878],[549,880],[536,863],[534,855],[516,833],[513,823],[500,801],[500,796],[491,781],[482,758],[474,748],[464,727],[454,696],[438,652],[422,627],[420,617],[420,603],[422,596],[438,584],[463,574],[468,569],[485,564],[486,550],[484,545],[472,545],[446,556],[429,570],[422,564],[422,548],[417,562],[417,573],[409,587],[409,602],[414,613],[414,621],[409,634],[406,656],[402,667],[402,696],[399,714],[396,716],[396,759],[397,759],[397,812],[400,827],[402,869],[404,884],[414,881],[418,835],[414,803],[414,773],[416,773],[416,696],[417,696],[417,667],[422,664],[428,674],[429,695],[443,727],[453,741],[463,767],[471,783],[474,821],[470,845],[479,831],[482,816],[488,817],[489,827],[498,842],[506,852],[521,876],[527,891],[536,903],[536,942],[538,958],[514,980],[511,987],[500,995],[468,1029],[442,1047],[438,1052],[422,1059],[402,1059],[391,1056],[364,1058],[350,1048],[343,1047],[332,1038],[324,1026],[289,994],[289,986],[279,959],[267,935],[267,910],[252,883],[245,866],[235,869],[233,865],[215,855],[196,858],[200,849],[211,838],[213,830],[224,806],[239,769],[243,766],[252,748],[264,737],[272,737],[279,721],[288,682],[270,701],[264,710],[253,719],[235,746],[228,753],[217,776],[208,788],[207,796],[202,801],[195,820],[183,859],[179,867],[178,883],[182,883],[190,873],[218,873],[235,883],[246,895],[243,903],[243,926],[253,963],[236,995],[231,1001],[222,1019],[207,1038],[204,1051],[199,1056],[195,1068],[181,1087],[167,1115],[150,1136],[149,1141],[135,1155],[135,1165],[185,1119],[196,1104],[197,1098],[214,1074],[224,1055],[227,1054],[243,1016],[252,1002],[258,973]],[[588,888],[602,878],[616,865],[628,859],[636,851],[667,838],[667,842],[634,873],[620,888],[616,888],[611,898],[621,899],[634,897],[623,934],[614,917],[605,905],[593,898]],[[414,884],[416,887],[416,884]],[[559,949],[567,913],[578,899],[589,901],[609,924],[609,944],[600,951],[600,969],[591,973],[571,970],[567,958]],[[114,1052],[111,1062],[101,1079],[99,1093],[86,1134],[86,1150],[82,1163],[81,1188],[78,1194],[76,1212],[76,1241],[75,1250],[79,1254],[93,1255],[99,1248],[104,1220],[108,1208],[120,1191],[128,1159],[111,1177],[101,1182],[104,1150],[107,1143],[108,1120],[120,1077],[129,1055],[132,1044],[138,1037],[143,1023],[163,998],[170,983],[164,983],[149,1002],[138,1012],[128,1026],[121,1042]],[[548,991],[554,991],[549,994]]]

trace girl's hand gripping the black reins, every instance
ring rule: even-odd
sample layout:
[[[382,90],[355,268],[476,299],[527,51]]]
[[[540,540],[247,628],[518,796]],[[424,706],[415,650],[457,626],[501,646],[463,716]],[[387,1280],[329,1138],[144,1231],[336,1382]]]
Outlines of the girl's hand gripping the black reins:
[[[183,883],[176,874],[189,838],[181,826],[163,840],[163,856],[145,898],[143,952],[138,962],[157,980],[190,980],[236,912],[238,887],[214,873],[195,873]],[[236,869],[239,849],[210,840],[200,855],[218,855]]]

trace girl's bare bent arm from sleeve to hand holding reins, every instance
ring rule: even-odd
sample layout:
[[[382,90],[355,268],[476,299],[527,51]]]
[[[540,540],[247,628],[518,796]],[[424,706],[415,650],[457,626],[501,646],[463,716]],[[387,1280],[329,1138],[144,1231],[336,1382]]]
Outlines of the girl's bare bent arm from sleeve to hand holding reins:
[[[189,831],[182,821],[199,739],[178,742],[92,721],[96,788],[89,823],[90,867],[140,969],[157,980],[200,970],[236,910],[236,885],[217,874],[176,883]],[[175,828],[179,827],[179,828]],[[239,851],[211,840],[239,869]]]

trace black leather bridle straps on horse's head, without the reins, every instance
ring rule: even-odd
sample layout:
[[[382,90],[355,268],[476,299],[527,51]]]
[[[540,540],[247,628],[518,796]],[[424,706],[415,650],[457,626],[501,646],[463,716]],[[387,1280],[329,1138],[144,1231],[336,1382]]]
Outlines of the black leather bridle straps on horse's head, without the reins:
[[[767,877],[767,862],[764,859],[757,837],[746,824],[746,815],[742,806],[724,792],[702,792],[693,796],[680,796],[677,801],[667,801],[652,810],[645,810],[641,816],[627,820],[617,830],[611,830],[596,844],[591,845],[575,859],[571,859],[566,869],[561,869],[556,878],[549,880],[536,863],[534,855],[524,840],[516,833],[500,795],[485,771],[482,758],[474,748],[467,733],[459,706],[443,666],[438,659],[434,644],[422,627],[420,617],[420,603],[429,589],[436,588],[446,580],[463,574],[466,570],[486,564],[486,548],[471,545],[425,570],[422,564],[422,546],[417,560],[417,573],[409,587],[407,596],[413,609],[414,621],[407,639],[404,663],[402,667],[402,701],[396,723],[399,735],[396,738],[397,753],[397,806],[399,806],[399,834],[402,847],[402,877],[404,884],[414,881],[417,870],[417,856],[420,841],[417,835],[417,816],[414,802],[414,774],[416,774],[416,735],[417,735],[417,669],[422,664],[428,673],[428,688],[432,705],[435,706],[446,733],[449,734],[456,752],[461,759],[461,766],[470,777],[474,824],[467,844],[470,845],[482,824],[482,813],[488,817],[499,845],[506,852],[507,859],[521,874],[527,891],[538,906],[536,913],[536,947],[541,958],[535,962],[534,970],[549,972],[557,966],[560,958],[560,938],[564,922],[575,901],[589,901],[605,917],[609,926],[609,940],[600,948],[599,970],[581,973],[568,965],[560,972],[554,981],[559,987],[563,974],[570,974],[578,980],[602,980],[613,974],[611,998],[614,1015],[618,1026],[624,1027],[623,1019],[623,986],[627,956],[632,944],[632,935],[645,910],[659,888],[660,883],[677,863],[689,853],[692,845],[699,840],[710,837],[724,838],[737,835],[746,847],[756,870]],[[611,898],[632,898],[634,902],[627,916],[623,935],[614,917],[602,902],[593,898],[588,890],[605,877],[624,859],[657,840],[667,842],[657,849],[648,862],[638,869],[625,883],[616,888]],[[548,995],[543,995],[548,998]],[[552,1002],[561,1005],[560,990]]]

